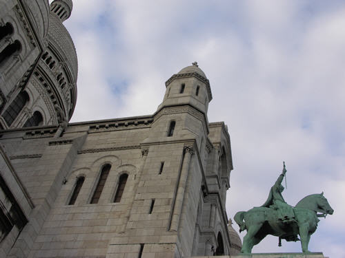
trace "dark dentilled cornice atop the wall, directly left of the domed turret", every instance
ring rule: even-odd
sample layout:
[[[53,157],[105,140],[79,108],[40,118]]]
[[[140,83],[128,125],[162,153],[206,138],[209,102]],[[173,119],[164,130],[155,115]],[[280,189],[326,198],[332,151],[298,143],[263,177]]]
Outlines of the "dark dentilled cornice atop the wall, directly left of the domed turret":
[[[108,122],[99,125],[91,125],[89,127],[89,133],[96,133],[100,131],[117,131],[128,129],[132,127],[136,128],[145,128],[150,127],[153,122],[153,119],[138,119],[138,120],[124,120],[124,121],[117,121],[117,122]]]

